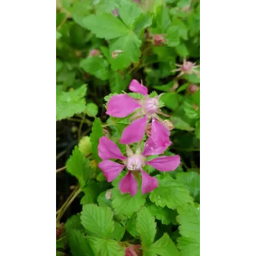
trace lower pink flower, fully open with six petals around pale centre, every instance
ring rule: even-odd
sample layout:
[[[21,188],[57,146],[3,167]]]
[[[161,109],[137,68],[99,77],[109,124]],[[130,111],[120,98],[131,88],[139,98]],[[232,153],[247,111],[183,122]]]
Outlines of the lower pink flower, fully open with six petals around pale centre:
[[[171,144],[171,143],[170,143]],[[158,181],[155,177],[150,176],[143,170],[146,165],[151,165],[156,170],[161,172],[174,171],[180,164],[180,156],[160,156],[147,161],[147,156],[158,155],[165,152],[168,146],[157,147],[149,137],[145,142],[143,153],[141,154],[140,143],[136,149],[136,153],[126,145],[127,156],[124,156],[120,151],[119,147],[109,140],[106,136],[100,138],[98,145],[98,152],[102,162],[99,163],[99,167],[102,170],[104,176],[108,182],[113,181],[127,167],[127,175],[120,181],[119,189],[122,194],[129,193],[131,196],[138,191],[138,183],[134,174],[140,172],[142,176],[141,191],[143,194],[151,192],[158,187]],[[118,159],[120,163],[113,162],[109,159]],[[133,174],[134,173],[134,174]]]

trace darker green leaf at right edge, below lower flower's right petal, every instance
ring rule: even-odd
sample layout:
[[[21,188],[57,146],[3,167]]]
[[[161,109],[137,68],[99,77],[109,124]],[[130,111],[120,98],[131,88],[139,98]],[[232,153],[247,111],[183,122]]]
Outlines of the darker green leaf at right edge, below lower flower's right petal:
[[[180,172],[176,175],[176,181],[183,183],[190,192],[190,196],[196,200],[196,197],[200,194],[201,187],[201,179],[198,173]]]

